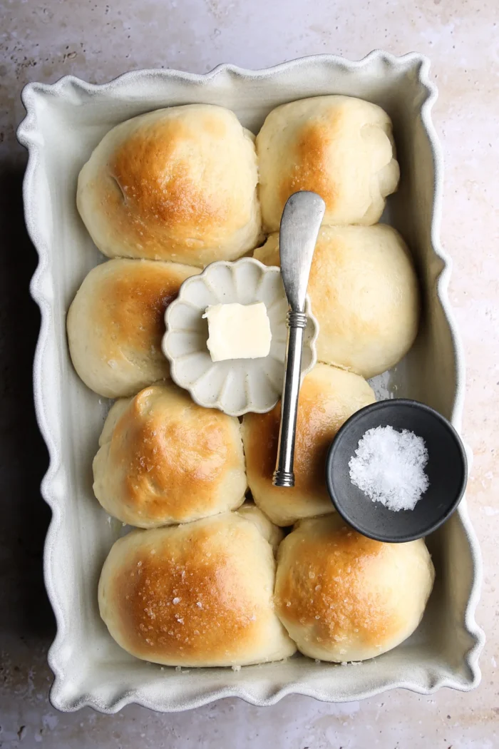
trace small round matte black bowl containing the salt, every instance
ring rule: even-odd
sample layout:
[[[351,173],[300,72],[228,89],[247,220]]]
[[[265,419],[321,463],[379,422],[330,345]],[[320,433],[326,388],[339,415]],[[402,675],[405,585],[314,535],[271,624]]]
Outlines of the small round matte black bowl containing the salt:
[[[412,510],[396,512],[373,502],[350,481],[349,461],[359,440],[379,426],[408,429],[425,442],[429,487]],[[373,403],[350,416],[326,461],[326,483],[337,512],[364,536],[391,543],[420,539],[441,526],[459,505],[467,479],[465,448],[453,425],[429,406],[404,398]]]

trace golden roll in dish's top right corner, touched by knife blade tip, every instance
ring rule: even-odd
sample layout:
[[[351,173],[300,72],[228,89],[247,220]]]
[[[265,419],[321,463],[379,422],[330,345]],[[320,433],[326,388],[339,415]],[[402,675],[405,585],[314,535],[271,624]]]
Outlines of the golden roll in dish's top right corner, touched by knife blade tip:
[[[301,99],[273,109],[257,136],[266,231],[277,231],[287,198],[318,192],[325,224],[374,224],[397,189],[391,119],[346,96]]]

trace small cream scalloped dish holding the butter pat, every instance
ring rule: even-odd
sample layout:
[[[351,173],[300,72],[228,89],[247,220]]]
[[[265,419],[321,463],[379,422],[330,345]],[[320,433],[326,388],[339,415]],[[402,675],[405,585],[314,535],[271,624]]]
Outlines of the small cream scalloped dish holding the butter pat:
[[[269,316],[272,342],[268,357],[212,362],[206,341],[208,324],[203,315],[215,304],[263,302]],[[177,299],[165,312],[166,333],[162,350],[170,361],[171,379],[189,390],[200,406],[218,408],[230,416],[271,410],[281,397],[286,355],[288,304],[281,270],[254,258],[217,261],[199,276],[183,282]],[[305,305],[308,321],[304,333],[301,377],[316,363],[319,324]]]

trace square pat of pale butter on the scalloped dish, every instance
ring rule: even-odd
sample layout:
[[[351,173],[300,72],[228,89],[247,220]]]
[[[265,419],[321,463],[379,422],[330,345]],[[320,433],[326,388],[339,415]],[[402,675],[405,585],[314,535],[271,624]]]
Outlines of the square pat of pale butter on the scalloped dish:
[[[263,302],[255,304],[214,304],[206,307],[206,342],[213,362],[227,359],[268,357],[272,333]]]

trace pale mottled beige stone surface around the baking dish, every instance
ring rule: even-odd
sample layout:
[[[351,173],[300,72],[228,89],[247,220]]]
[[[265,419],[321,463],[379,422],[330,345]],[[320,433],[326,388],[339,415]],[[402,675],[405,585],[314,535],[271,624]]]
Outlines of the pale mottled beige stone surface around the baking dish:
[[[454,261],[450,298],[468,362],[464,436],[475,455],[468,503],[484,557],[477,618],[488,641],[480,687],[432,697],[393,691],[344,705],[289,697],[269,709],[226,700],[177,715],[137,706],[113,717],[89,709],[57,714],[47,702],[52,631],[45,626],[40,634],[36,621],[24,631],[15,613],[19,592],[6,583],[2,749],[499,746],[499,1],[1,0],[1,170],[16,173],[24,164],[14,130],[22,118],[19,91],[30,80],[73,73],[105,82],[133,68],[204,72],[223,61],[266,67],[317,52],[358,59],[374,48],[428,55],[440,91],[434,121],[446,164],[441,237]],[[9,189],[10,181],[2,184]]]

